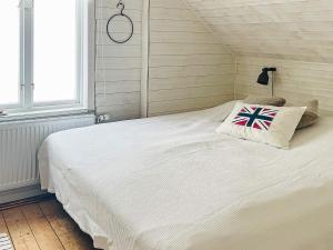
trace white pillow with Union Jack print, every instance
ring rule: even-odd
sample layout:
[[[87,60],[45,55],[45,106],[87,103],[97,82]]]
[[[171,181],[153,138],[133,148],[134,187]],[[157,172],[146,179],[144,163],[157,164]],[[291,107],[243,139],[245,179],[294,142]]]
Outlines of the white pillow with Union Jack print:
[[[238,102],[216,132],[289,149],[305,109]]]

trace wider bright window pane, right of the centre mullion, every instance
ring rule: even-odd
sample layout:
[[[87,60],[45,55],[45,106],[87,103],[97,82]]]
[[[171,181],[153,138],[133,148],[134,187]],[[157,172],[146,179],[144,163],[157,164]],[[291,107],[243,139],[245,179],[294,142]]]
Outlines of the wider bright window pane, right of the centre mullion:
[[[34,102],[77,99],[77,1],[34,0]]]

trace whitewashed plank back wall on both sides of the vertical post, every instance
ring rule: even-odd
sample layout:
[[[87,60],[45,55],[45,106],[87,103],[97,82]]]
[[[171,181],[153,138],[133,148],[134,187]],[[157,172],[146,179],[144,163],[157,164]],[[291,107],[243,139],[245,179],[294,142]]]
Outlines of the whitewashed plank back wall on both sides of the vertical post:
[[[98,113],[122,120],[140,117],[143,0],[123,1],[125,13],[134,21],[134,36],[124,44],[113,43],[105,34],[108,18],[118,11],[117,2],[97,1],[95,99]],[[150,0],[150,7],[149,116],[196,110],[233,99],[235,64],[221,41],[183,1]]]

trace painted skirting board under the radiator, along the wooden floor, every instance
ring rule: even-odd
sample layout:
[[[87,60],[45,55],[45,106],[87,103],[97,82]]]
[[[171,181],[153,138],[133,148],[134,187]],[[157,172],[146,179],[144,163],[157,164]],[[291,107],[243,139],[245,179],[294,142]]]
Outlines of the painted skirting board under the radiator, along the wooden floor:
[[[40,189],[40,184],[27,186],[23,188],[12,189],[0,192],[0,204],[28,199],[31,197],[38,197],[46,194],[46,191]]]

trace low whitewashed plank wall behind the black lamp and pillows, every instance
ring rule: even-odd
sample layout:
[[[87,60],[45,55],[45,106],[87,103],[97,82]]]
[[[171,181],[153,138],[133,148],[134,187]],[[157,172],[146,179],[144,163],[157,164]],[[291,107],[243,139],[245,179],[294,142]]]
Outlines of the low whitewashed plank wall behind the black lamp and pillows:
[[[317,99],[324,113],[333,111],[333,63],[238,57],[236,98],[271,94],[270,87],[255,83],[263,66],[278,67],[275,96],[294,103]]]

